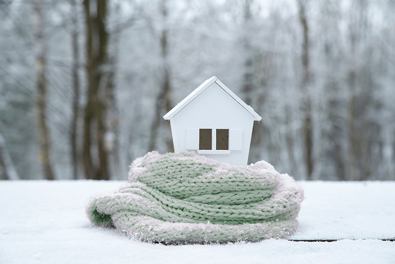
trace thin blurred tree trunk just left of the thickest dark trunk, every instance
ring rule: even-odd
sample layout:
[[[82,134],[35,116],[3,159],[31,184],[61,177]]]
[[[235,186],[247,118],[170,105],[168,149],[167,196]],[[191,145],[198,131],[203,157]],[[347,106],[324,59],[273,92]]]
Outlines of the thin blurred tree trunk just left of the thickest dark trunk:
[[[78,19],[77,19],[77,2],[70,0],[72,6],[72,53],[73,53],[73,106],[72,106],[72,123],[70,132],[71,161],[73,167],[73,178],[78,179],[79,150],[78,150],[78,120],[79,120],[79,47],[78,47]]]

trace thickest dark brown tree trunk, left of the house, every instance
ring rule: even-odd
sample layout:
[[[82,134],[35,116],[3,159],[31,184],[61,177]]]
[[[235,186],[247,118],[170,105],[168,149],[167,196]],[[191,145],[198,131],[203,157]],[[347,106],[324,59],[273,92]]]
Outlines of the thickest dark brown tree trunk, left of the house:
[[[91,7],[95,6],[96,10]],[[105,0],[84,0],[86,20],[86,75],[88,88],[84,109],[82,160],[85,177],[109,179],[106,134],[106,62],[108,33],[105,27],[107,3]],[[94,155],[96,154],[96,155]]]

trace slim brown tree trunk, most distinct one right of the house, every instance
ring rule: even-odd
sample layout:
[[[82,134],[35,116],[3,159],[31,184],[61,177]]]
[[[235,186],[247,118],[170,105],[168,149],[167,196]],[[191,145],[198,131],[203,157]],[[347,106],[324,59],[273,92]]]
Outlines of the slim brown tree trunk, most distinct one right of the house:
[[[309,24],[306,16],[306,6],[308,0],[298,0],[299,4],[299,20],[303,30],[303,43],[302,43],[302,85],[301,91],[303,94],[303,146],[304,146],[304,159],[306,163],[307,178],[313,178],[313,125],[312,125],[312,101],[310,98],[310,49],[309,49]]]

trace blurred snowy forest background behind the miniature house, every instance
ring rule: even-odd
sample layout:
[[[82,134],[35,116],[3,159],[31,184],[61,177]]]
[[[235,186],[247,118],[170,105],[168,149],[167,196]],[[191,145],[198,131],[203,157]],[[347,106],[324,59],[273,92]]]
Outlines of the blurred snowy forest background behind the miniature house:
[[[0,178],[126,179],[217,76],[249,160],[395,180],[395,0],[0,0]]]

